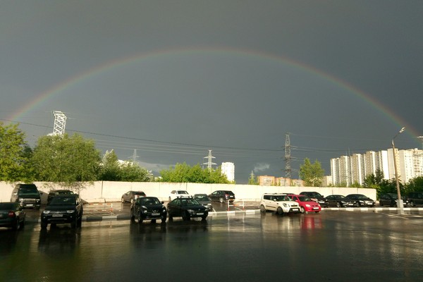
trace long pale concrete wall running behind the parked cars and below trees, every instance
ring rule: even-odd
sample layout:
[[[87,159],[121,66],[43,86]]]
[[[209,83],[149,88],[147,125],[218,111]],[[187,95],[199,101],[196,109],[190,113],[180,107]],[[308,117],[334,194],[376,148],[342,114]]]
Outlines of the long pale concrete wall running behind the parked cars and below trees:
[[[44,192],[42,202],[47,201],[47,193],[51,189],[67,189],[54,183],[35,182],[39,191]],[[8,202],[14,185],[0,181],[0,202]],[[161,182],[114,182],[96,181],[92,184],[85,183],[78,189],[83,200],[87,202],[114,202],[120,201],[121,196],[129,190],[144,191],[147,196],[159,197],[168,200],[171,190],[187,190],[191,195],[197,193],[210,194],[215,190],[231,190],[237,200],[259,200],[263,193],[292,192],[298,194],[302,191],[317,191],[321,195],[348,195],[364,194],[376,200],[376,190],[367,188],[337,188],[337,187],[293,187],[293,186],[259,186],[235,184],[205,184],[205,183],[161,183]]]

